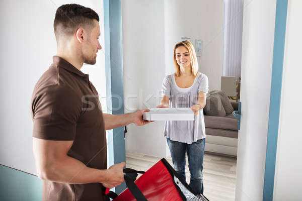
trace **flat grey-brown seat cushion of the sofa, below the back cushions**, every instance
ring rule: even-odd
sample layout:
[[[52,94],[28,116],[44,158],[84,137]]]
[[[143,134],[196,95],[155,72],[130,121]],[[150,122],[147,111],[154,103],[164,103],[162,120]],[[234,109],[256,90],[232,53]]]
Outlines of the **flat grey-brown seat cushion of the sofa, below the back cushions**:
[[[206,128],[226,129],[238,131],[238,119],[228,117],[204,116],[204,125]]]

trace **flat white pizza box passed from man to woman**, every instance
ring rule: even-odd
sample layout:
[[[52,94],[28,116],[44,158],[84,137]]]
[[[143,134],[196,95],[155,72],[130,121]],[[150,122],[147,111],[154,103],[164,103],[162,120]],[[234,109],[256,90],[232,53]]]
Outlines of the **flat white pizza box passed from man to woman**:
[[[194,121],[194,112],[191,108],[151,108],[150,112],[143,113],[147,121]]]

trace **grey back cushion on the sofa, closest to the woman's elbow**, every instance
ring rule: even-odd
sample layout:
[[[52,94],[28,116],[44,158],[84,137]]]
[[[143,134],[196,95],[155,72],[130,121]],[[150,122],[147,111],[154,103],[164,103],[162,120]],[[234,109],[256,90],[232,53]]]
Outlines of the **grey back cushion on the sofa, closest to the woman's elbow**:
[[[221,103],[220,95],[210,94],[206,98],[206,105],[203,109],[204,113],[209,116],[225,117],[226,113]]]

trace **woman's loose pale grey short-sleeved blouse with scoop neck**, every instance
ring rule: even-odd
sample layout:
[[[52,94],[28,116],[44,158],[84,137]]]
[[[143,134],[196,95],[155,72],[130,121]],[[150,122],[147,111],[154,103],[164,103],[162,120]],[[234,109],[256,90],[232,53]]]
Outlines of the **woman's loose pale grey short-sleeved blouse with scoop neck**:
[[[205,74],[198,73],[190,87],[180,88],[173,73],[165,77],[162,94],[169,97],[170,108],[191,108],[197,103],[198,92],[207,93],[208,88],[208,78]],[[194,121],[166,121],[164,136],[188,144],[205,138],[203,110],[199,110]]]

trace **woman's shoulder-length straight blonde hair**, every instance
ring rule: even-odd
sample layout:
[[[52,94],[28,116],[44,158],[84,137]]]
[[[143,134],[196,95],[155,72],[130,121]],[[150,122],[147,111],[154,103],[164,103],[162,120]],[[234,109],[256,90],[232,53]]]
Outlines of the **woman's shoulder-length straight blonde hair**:
[[[184,46],[189,51],[190,58],[191,58],[191,72],[192,72],[192,75],[195,77],[198,73],[198,62],[197,62],[197,57],[196,57],[196,53],[195,53],[195,48],[192,45],[192,43],[188,40],[181,41],[181,42],[177,43],[174,47],[174,67],[176,68],[176,76],[180,76],[180,66],[178,65],[178,63],[176,61],[176,52],[175,51],[180,46]]]

